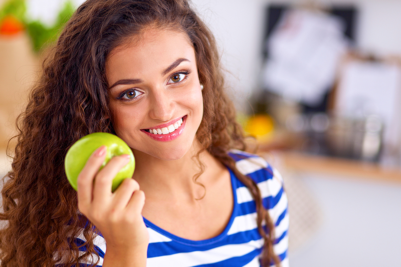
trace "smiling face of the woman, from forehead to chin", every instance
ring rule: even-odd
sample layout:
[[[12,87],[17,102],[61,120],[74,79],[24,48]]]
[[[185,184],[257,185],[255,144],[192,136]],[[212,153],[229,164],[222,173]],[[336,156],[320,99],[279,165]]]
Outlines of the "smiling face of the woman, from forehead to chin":
[[[194,144],[203,116],[193,47],[173,30],[146,30],[133,41],[106,61],[114,130],[134,154],[179,159]]]

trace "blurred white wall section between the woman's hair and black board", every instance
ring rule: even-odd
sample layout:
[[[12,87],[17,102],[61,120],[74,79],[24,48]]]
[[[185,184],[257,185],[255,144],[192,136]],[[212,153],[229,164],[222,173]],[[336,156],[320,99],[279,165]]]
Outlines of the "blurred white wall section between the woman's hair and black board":
[[[233,99],[243,109],[258,84],[265,3],[260,0],[192,0],[215,34],[229,72]]]

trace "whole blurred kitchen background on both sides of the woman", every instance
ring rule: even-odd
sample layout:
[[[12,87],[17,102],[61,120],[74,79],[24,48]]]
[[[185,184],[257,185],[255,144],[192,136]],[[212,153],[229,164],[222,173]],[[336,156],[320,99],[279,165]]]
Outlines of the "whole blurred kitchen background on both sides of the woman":
[[[2,176],[41,53],[80,3],[0,0]],[[291,266],[401,266],[401,1],[192,3],[238,120],[284,176]]]

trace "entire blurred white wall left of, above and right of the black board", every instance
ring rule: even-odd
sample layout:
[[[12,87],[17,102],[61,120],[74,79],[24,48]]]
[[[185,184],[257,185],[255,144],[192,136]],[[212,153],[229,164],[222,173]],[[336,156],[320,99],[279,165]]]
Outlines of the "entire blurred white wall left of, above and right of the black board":
[[[356,44],[360,50],[375,55],[401,55],[401,1],[192,0],[219,42],[240,109],[247,105],[244,98],[258,87],[265,7],[270,3],[305,2],[322,6],[353,4],[359,11]]]

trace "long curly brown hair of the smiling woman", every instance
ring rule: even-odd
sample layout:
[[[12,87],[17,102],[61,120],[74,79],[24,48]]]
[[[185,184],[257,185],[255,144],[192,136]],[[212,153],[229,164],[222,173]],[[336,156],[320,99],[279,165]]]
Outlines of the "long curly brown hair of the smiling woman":
[[[183,31],[192,43],[199,81],[205,88],[197,139],[249,188],[265,239],[263,265],[279,264],[273,253],[274,227],[261,193],[227,153],[232,148],[245,149],[245,142],[233,104],[224,93],[220,56],[211,32],[185,0],[88,0],[44,57],[38,82],[18,118],[12,171],[2,190],[1,266],[50,267],[57,262],[78,266],[80,260],[96,254],[94,225],[78,212],[64,157],[84,135],[114,133],[105,62],[114,48],[148,27]],[[79,251],[71,238],[79,234],[87,240],[86,252]]]

